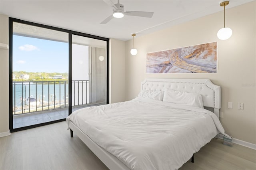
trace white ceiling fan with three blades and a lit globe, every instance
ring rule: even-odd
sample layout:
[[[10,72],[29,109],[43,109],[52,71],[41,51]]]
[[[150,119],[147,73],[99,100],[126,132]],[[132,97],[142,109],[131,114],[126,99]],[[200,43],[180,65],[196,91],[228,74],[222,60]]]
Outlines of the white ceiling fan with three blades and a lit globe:
[[[103,0],[103,1],[106,4],[108,4],[109,6],[112,6],[113,14],[111,16],[109,16],[108,18],[106,18],[104,21],[102,21],[100,24],[106,24],[110,20],[112,20],[112,18],[114,18],[114,17],[122,18],[122,17],[124,17],[124,15],[151,18],[154,14],[154,12],[144,12],[144,11],[126,11],[126,12],[124,12],[124,5],[120,4],[119,0],[118,0],[117,4],[114,4],[113,2],[111,2],[111,0]]]

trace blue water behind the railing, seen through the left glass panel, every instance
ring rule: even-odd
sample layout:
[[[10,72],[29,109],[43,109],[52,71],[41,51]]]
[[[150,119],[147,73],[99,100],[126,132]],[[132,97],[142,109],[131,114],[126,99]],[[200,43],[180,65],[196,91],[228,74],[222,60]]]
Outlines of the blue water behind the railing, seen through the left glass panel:
[[[66,107],[68,103],[67,81],[14,82],[12,90],[14,114]]]

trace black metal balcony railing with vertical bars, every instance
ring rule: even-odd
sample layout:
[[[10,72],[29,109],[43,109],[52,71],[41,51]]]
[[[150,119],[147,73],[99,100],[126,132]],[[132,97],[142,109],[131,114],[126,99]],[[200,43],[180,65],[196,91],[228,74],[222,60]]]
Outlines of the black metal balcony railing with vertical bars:
[[[89,104],[89,81],[72,81],[72,106]],[[14,81],[13,115],[68,107],[68,81]]]

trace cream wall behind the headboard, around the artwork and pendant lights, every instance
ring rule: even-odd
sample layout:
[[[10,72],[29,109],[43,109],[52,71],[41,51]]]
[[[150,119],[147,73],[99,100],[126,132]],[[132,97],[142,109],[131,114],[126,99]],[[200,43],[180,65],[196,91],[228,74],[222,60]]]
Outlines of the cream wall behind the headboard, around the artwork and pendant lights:
[[[256,144],[256,3],[255,1],[226,10],[226,26],[233,35],[228,40],[218,40],[216,34],[223,27],[223,11],[184,24],[160,30],[145,36],[137,35],[136,56],[130,55],[132,40],[126,42],[126,100],[140,91],[145,78],[195,78],[211,79],[221,86],[220,121],[234,138]],[[146,53],[217,42],[218,73],[146,74]],[[234,103],[228,109],[228,101]],[[238,102],[244,110],[238,110]]]

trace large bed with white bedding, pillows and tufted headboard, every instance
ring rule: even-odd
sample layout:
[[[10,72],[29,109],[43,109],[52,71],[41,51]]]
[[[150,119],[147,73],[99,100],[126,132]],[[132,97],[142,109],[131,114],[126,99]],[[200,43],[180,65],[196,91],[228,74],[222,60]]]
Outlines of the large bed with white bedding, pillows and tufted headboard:
[[[220,86],[209,79],[145,79],[135,99],[74,111],[67,123],[110,170],[178,169],[224,134],[219,109]]]

